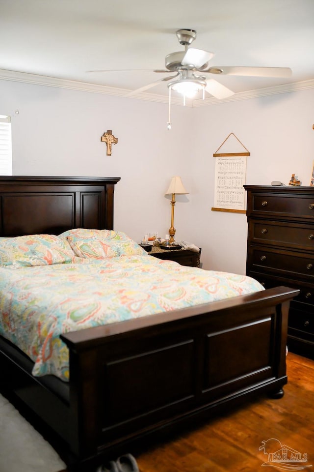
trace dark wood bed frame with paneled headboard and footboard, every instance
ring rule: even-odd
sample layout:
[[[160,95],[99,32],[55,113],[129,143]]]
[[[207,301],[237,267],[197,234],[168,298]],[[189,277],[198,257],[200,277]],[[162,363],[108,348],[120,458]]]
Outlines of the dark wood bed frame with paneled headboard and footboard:
[[[0,177],[0,236],[113,229],[119,178]],[[1,392],[47,427],[69,470],[105,459],[287,383],[288,308],[298,290],[252,295],[62,336],[70,382],[34,378],[0,337]]]

